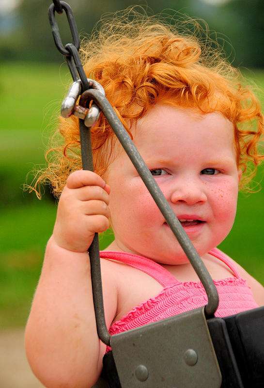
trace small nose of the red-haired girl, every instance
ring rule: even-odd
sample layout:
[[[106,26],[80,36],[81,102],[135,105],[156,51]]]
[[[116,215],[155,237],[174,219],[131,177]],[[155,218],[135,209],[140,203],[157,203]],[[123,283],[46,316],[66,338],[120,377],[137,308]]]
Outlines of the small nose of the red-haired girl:
[[[185,202],[187,205],[202,204],[207,201],[207,196],[200,182],[182,181],[175,185],[171,194],[171,202]]]

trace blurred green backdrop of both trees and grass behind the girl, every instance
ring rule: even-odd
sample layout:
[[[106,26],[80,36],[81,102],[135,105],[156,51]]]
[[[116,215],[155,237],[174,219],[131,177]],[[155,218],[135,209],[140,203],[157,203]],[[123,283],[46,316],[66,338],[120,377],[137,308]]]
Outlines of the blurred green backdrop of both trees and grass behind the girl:
[[[45,162],[48,132],[56,126],[71,78],[53,42],[47,17],[51,2],[0,0],[0,328],[26,323],[56,217],[48,187],[42,201],[23,191],[27,174]],[[80,34],[91,33],[103,14],[130,5],[148,5],[153,14],[176,11],[175,18],[204,19],[233,65],[264,87],[263,0],[68,2]],[[66,44],[71,36],[65,13],[56,20]],[[260,171],[256,186],[262,176]],[[263,204],[261,191],[240,195],[234,228],[220,247],[264,284]],[[106,243],[102,240],[102,248]]]

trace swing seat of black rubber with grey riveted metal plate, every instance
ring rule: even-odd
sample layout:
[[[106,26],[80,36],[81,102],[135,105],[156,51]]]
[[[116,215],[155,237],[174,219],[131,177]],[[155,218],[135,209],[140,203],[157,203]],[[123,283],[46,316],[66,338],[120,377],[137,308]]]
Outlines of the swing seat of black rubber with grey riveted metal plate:
[[[104,356],[102,377],[98,381],[98,385],[94,387],[263,388],[264,307],[241,312],[230,317],[207,320],[206,327],[202,327],[202,330],[206,331],[207,328],[209,330],[209,337],[217,358],[216,371],[213,371],[212,365],[210,365],[211,356],[208,354],[208,348],[204,347],[204,343],[202,343],[200,349],[197,348],[199,342],[201,343],[203,339],[199,329],[198,331],[195,330],[197,322],[195,322],[192,314],[196,310],[112,336],[112,339],[120,336],[120,340],[117,341],[113,350]],[[184,317],[183,324],[181,324],[181,316]],[[192,322],[188,322],[190,320]],[[170,323],[174,326],[173,333],[171,332]],[[180,327],[177,328],[175,325]],[[155,326],[158,326],[157,330],[155,330]],[[193,329],[194,332],[192,331]],[[128,340],[121,338],[124,334],[128,335]],[[160,348],[159,336],[162,343],[165,339],[165,349]],[[205,369],[207,370],[205,372],[209,372],[209,375],[205,377],[203,382],[201,382],[200,377],[204,377],[204,366],[201,367],[198,360],[197,363],[194,363],[195,360],[193,362],[190,360],[189,365],[186,367],[184,359],[182,359],[182,362],[181,360],[173,359],[178,348],[182,348],[180,354],[184,358],[186,352],[182,351],[185,349],[182,344],[186,341],[186,338],[190,341],[184,345],[187,346],[187,350],[190,348],[194,349],[198,355],[198,360],[201,361],[202,357],[205,360]],[[124,344],[123,341],[127,343]],[[155,351],[156,348],[157,351]],[[141,354],[137,354],[138,350],[141,350]],[[162,355],[162,352],[165,354]],[[163,365],[160,365],[161,363]],[[175,363],[177,363],[177,367],[175,367]],[[139,367],[141,367],[141,372]],[[217,377],[218,367],[220,380]],[[163,373],[156,373],[159,370],[163,370]],[[186,372],[187,375],[185,376]],[[193,376],[190,378],[189,374],[191,372],[193,372]],[[152,373],[155,373],[154,379],[151,379]],[[214,373],[215,375],[212,377]],[[183,378],[181,375],[183,375]],[[174,378],[173,376],[176,377]],[[196,376],[198,383],[193,381]],[[186,379],[188,380],[189,378],[190,381],[187,382]],[[212,381],[209,382],[207,381],[208,379]],[[177,381],[177,385],[173,384],[173,381]]]

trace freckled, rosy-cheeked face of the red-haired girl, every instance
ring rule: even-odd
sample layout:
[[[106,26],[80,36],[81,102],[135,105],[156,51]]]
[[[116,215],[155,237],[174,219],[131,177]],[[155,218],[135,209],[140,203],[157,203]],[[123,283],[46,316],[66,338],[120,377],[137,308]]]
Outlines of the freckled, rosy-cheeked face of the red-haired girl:
[[[137,123],[134,144],[200,256],[228,235],[238,183],[233,125],[221,113],[157,104]],[[164,264],[186,255],[124,151],[110,165],[111,249]]]

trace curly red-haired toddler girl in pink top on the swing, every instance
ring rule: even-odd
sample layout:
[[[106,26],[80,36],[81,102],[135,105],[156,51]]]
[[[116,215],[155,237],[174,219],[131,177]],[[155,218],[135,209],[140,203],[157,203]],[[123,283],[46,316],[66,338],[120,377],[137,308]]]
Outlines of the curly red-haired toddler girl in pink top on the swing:
[[[210,45],[209,45],[210,46]],[[135,146],[194,244],[219,293],[216,316],[264,305],[264,288],[216,247],[233,226],[248,162],[263,156],[260,104],[218,51],[152,19],[104,26],[83,47]],[[207,303],[201,282],[103,114],[94,170],[81,170],[78,121],[62,119],[57,160],[42,178],[60,195],[26,329],[31,368],[46,387],[92,387],[106,352],[97,336],[87,250],[101,252],[111,334]]]

